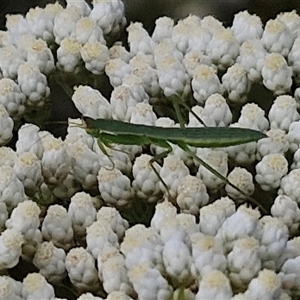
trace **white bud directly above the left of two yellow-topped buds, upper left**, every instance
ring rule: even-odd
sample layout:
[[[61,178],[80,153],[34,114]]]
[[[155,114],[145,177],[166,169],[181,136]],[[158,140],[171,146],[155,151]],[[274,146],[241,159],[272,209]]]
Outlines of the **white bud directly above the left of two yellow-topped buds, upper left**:
[[[63,39],[70,37],[74,33],[76,22],[81,17],[80,9],[73,5],[60,10],[55,15],[53,33],[56,44],[60,44]]]

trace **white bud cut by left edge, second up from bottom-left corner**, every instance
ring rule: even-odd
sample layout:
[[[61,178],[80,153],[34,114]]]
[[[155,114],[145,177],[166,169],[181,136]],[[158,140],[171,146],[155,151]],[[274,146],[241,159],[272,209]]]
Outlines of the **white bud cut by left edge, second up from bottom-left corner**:
[[[23,235],[15,229],[5,229],[0,236],[0,270],[13,268],[22,253]]]

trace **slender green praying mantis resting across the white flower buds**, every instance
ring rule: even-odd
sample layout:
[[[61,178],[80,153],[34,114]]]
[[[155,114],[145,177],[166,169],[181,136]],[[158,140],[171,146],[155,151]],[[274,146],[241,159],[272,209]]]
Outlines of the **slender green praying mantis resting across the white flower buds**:
[[[146,126],[125,123],[117,120],[97,119],[83,117],[86,124],[86,131],[98,141],[101,151],[107,155],[105,146],[111,147],[111,144],[124,145],[146,145],[154,144],[165,148],[166,151],[153,157],[150,165],[156,173],[162,184],[168,191],[167,185],[153,166],[153,162],[165,158],[172,151],[171,144],[178,145],[182,150],[189,154],[193,159],[207,168],[214,175],[218,176],[224,182],[237,189],[240,193],[245,193],[232,184],[226,177],[217,172],[213,167],[198,157],[189,147],[227,147],[257,141],[266,135],[260,131],[246,128],[228,128],[228,127],[180,127],[163,128],[155,126]],[[255,199],[247,198],[263,211],[265,209]]]

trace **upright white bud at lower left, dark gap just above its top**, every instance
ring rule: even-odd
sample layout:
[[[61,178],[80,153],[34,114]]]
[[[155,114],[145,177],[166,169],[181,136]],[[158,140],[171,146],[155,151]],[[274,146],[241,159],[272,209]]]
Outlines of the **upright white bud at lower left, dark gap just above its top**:
[[[67,210],[58,204],[51,205],[42,225],[43,238],[56,247],[70,249],[73,244],[73,229]]]

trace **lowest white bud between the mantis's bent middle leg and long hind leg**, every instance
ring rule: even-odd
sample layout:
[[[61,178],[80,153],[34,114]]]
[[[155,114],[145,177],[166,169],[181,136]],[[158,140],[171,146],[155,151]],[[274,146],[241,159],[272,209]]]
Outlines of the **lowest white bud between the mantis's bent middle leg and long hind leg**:
[[[199,215],[199,209],[209,201],[209,195],[203,181],[187,175],[179,181],[176,203],[183,213]]]

